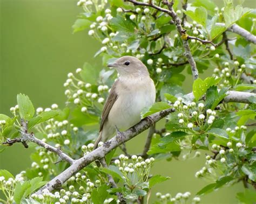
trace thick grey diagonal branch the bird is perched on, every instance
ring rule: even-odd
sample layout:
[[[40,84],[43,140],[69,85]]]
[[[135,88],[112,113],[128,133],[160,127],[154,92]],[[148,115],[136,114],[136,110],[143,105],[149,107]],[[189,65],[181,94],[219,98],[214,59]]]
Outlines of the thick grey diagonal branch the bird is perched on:
[[[248,97],[256,97],[256,94],[247,92],[229,91],[227,92],[227,94],[228,96],[226,96],[224,99],[225,102],[250,103],[250,101],[248,101]],[[186,97],[191,101],[194,99],[193,93],[187,94]],[[37,191],[37,194],[41,194],[43,189],[48,189],[51,192],[53,191],[53,189],[56,189],[57,187],[63,185],[64,182],[72,177],[73,174],[82,170],[85,166],[91,164],[93,161],[104,158],[105,155],[111,150],[137,136],[144,130],[150,128],[150,126],[152,126],[152,123],[158,122],[161,118],[164,118],[165,116],[169,115],[171,112],[174,111],[175,109],[169,108],[142,119],[142,121],[132,126],[130,129],[122,132],[122,138],[120,138],[120,136],[115,136],[105,142],[103,146],[100,146],[96,150],[93,150],[92,152],[86,154],[84,157],[75,160],[70,167],[66,168],[66,170],[57,175],[57,177],[53,178],[51,181],[48,182],[48,184],[39,189]]]

